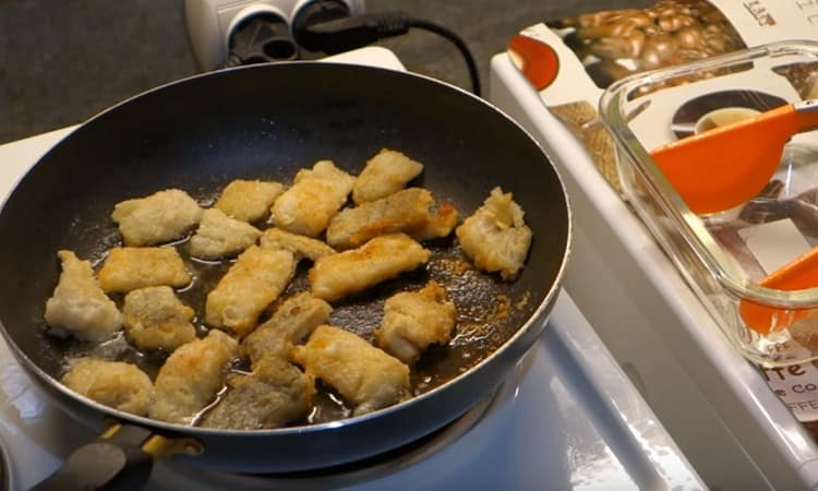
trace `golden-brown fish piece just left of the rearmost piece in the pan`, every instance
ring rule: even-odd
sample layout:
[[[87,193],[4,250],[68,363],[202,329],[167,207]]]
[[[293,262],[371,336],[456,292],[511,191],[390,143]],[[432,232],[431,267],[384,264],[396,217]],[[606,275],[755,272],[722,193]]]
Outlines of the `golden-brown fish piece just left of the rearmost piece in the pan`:
[[[317,237],[347,202],[354,180],[330,160],[299,170],[292,188],[273,204],[273,223],[292,233]]]

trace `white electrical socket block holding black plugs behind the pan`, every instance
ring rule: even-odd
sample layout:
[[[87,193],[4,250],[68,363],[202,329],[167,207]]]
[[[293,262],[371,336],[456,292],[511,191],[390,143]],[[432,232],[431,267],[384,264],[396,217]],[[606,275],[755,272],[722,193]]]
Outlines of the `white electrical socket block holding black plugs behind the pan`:
[[[184,0],[191,48],[200,70],[212,70],[228,57],[230,35],[241,21],[257,14],[290,20],[313,0]],[[352,14],[364,0],[344,0]],[[291,25],[291,24],[290,24]]]

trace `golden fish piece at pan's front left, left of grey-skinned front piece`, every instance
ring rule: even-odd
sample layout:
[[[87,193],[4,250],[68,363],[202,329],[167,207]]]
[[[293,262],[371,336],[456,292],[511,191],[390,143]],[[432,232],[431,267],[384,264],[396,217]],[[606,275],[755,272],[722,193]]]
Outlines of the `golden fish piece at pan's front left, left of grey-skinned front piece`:
[[[236,339],[217,330],[178,347],[156,375],[156,400],[148,416],[160,421],[190,424],[192,417],[204,409],[225,385],[237,347]]]

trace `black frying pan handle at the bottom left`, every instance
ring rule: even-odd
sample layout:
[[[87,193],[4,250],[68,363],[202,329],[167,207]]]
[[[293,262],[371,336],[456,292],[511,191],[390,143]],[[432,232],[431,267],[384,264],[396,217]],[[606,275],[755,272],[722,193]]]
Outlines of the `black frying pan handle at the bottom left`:
[[[145,445],[155,436],[145,428],[115,424],[96,441],[76,448],[61,468],[33,489],[144,489],[154,466]]]

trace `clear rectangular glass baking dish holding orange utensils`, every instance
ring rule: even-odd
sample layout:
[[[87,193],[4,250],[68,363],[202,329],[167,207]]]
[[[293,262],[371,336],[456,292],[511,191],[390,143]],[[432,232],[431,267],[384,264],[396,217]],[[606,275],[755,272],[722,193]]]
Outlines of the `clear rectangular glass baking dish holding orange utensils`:
[[[818,359],[818,131],[795,132],[760,189],[718,209],[693,209],[699,205],[690,191],[658,165],[660,149],[698,145],[725,124],[732,130],[785,106],[818,117],[815,98],[818,43],[782,41],[633,75],[600,99],[626,200],[730,342],[763,366]],[[686,156],[694,188],[697,179],[709,189],[756,172],[750,159],[731,156],[755,155],[739,151],[771,141],[769,133]]]

